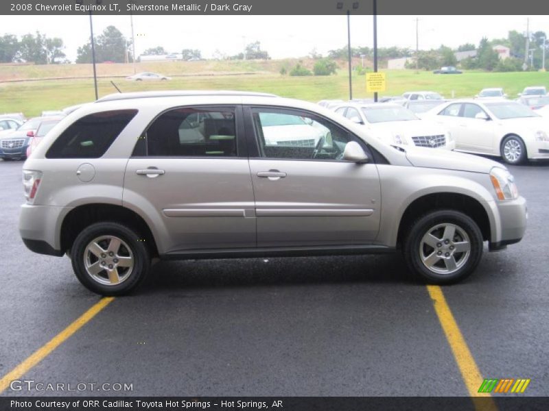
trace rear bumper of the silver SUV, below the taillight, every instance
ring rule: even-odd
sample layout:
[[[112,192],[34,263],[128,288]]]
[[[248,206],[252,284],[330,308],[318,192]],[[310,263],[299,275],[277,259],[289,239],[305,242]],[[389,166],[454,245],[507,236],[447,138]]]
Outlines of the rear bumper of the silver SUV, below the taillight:
[[[19,234],[28,249],[35,253],[62,256],[61,224],[72,207],[33,206],[23,204],[19,215]]]

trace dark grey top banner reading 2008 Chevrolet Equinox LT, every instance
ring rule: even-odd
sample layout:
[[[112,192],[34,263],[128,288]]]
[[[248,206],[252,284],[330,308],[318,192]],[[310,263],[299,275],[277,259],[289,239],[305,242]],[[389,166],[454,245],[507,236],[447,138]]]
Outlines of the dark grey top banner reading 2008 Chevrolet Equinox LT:
[[[4,15],[331,15],[373,14],[375,0],[2,0]],[[549,1],[377,0],[377,14],[540,15]],[[548,22],[549,23],[549,22]]]

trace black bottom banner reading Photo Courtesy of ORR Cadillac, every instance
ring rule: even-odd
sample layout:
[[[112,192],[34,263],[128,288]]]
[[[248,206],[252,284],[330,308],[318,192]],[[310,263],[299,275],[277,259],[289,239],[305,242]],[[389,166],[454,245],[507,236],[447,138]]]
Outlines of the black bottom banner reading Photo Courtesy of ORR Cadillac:
[[[494,407],[495,405],[495,407]],[[0,397],[0,411],[549,410],[549,397]]]

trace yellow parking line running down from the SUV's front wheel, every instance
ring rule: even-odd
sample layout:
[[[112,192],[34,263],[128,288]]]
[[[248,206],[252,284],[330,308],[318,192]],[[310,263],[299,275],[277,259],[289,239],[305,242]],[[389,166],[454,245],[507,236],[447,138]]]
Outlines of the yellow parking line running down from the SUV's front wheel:
[[[454,353],[454,358],[458,364],[463,382],[467,386],[469,395],[471,397],[491,397],[489,393],[478,393],[478,388],[484,379],[480,375],[478,366],[471,355],[471,351],[469,351],[469,347],[467,347],[467,343],[465,343],[465,338],[463,338],[460,332],[452,311],[446,303],[441,288],[439,286],[427,286],[427,290],[433,300],[434,310],[436,311],[436,315],[439,316],[442,329],[444,330],[444,334],[446,334],[446,339],[452,349],[452,353]],[[487,411],[498,409],[492,399],[473,400],[476,410]]]

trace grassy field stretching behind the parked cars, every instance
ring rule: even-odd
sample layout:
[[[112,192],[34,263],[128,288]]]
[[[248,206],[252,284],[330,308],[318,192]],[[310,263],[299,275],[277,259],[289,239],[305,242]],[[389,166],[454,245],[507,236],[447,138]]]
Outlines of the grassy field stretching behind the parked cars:
[[[282,62],[270,61],[268,66],[254,66],[253,62],[234,66],[219,62],[208,66],[201,73],[215,75],[192,75],[174,77],[168,82],[127,82],[112,77],[121,90],[250,90],[272,92],[283,97],[293,97],[308,101],[321,99],[348,99],[349,80],[347,71],[340,70],[329,77],[290,77],[280,75],[278,66]],[[162,63],[166,64],[166,63]],[[257,65],[257,64],[256,64]],[[28,66],[27,66],[28,67]],[[239,70],[235,70],[237,67]],[[231,71],[257,71],[253,75],[226,75]],[[51,66],[47,67],[51,70]],[[78,68],[82,70],[82,68]],[[206,66],[202,66],[206,69]],[[28,69],[31,70],[31,69]],[[36,73],[37,66],[32,66]],[[190,70],[190,69],[189,69]],[[526,86],[549,86],[549,73],[483,73],[471,72],[462,75],[434,75],[430,72],[386,71],[387,90],[380,95],[401,95],[409,90],[434,90],[445,97],[472,97],[485,87],[503,87],[510,97]],[[25,76],[29,73],[25,73]],[[64,75],[70,73],[63,73]],[[99,94],[104,96],[116,92],[109,82],[110,78],[99,79]],[[0,82],[0,113],[23,112],[26,116],[36,116],[42,110],[56,110],[86,101],[93,101],[93,79],[59,79],[21,82]],[[353,97],[372,97],[366,93],[364,76],[353,76]]]

